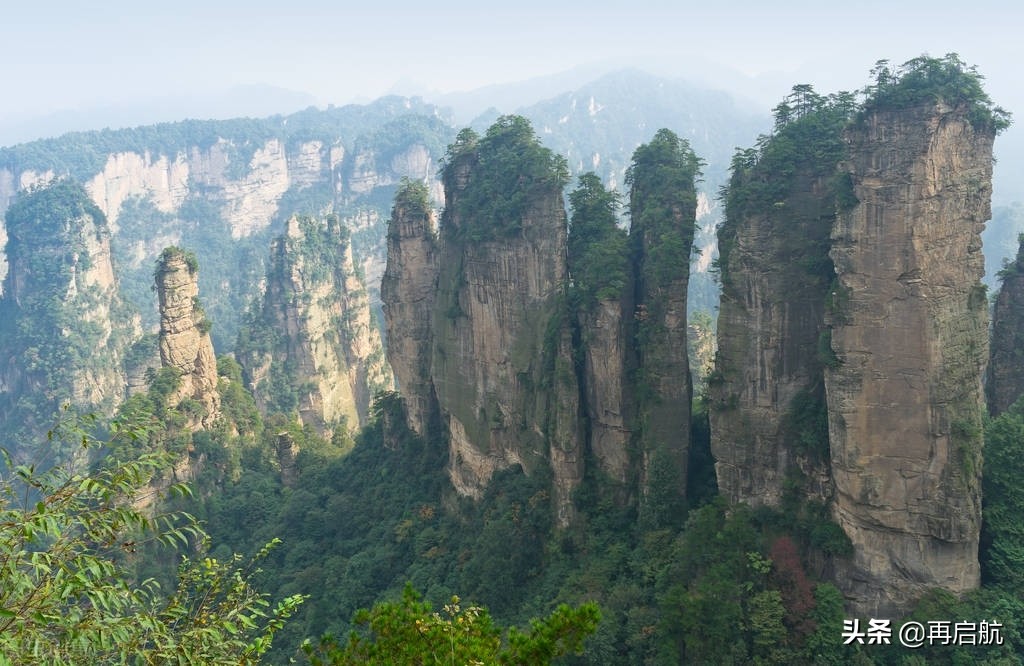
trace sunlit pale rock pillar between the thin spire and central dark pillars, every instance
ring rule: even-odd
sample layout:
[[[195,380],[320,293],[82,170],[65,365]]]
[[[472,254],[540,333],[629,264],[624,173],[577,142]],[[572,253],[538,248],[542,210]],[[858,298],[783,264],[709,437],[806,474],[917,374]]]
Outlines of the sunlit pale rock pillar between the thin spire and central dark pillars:
[[[292,217],[270,254],[262,305],[238,345],[257,404],[297,410],[322,432],[359,427],[392,380],[348,233],[334,215]]]

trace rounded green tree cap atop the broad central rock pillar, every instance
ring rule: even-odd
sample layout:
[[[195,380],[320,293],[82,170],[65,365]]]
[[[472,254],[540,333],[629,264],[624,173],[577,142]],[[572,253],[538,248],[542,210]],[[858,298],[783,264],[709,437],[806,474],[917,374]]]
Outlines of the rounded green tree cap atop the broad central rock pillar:
[[[460,169],[470,166],[465,183]],[[473,241],[507,238],[522,231],[537,201],[568,182],[565,159],[541,145],[529,121],[502,116],[481,138],[463,130],[449,147],[441,175],[454,193],[451,206],[460,232]]]

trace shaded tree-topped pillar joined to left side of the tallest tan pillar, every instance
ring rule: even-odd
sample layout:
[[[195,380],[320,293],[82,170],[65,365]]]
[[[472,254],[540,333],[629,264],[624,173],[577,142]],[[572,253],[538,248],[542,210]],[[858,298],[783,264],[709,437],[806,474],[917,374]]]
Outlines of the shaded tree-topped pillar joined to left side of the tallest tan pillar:
[[[709,381],[719,491],[779,506],[786,489],[831,497],[824,364],[836,272],[838,162],[849,111],[796,93],[760,151],[733,161],[719,232],[722,300]],[[793,157],[793,145],[799,157]]]

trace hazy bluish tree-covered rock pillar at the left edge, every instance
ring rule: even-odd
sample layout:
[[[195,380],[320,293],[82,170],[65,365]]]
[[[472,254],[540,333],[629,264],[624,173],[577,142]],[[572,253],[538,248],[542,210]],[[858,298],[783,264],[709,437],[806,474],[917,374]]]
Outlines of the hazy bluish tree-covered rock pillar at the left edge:
[[[125,351],[141,331],[117,295],[106,218],[81,185],[61,180],[16,202],[7,230],[0,420],[45,428],[63,403],[113,413]]]

